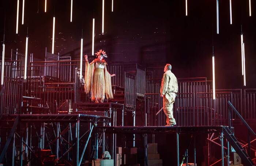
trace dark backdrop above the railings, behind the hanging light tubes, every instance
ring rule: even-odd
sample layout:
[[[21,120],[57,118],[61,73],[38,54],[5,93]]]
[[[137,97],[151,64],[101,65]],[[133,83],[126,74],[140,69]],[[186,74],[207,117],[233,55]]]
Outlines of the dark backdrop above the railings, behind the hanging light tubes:
[[[44,57],[45,47],[52,48],[52,21],[56,16],[55,52],[79,57],[80,38],[84,54],[91,55],[92,18],[95,17],[95,51],[106,50],[108,61],[138,62],[147,66],[173,65],[177,77],[212,77],[211,56],[214,45],[216,88],[242,88],[241,24],[246,57],[246,88],[256,82],[255,7],[249,17],[247,0],[232,0],[233,25],[229,24],[229,0],[219,1],[219,32],[216,33],[216,0],[105,0],[105,34],[101,34],[101,0],[74,0],[73,22],[70,23],[70,0],[25,0],[25,25],[16,30],[16,0],[1,0],[0,35],[3,42],[4,17],[6,56],[11,48],[25,52],[29,35],[29,52]],[[1,48],[2,49],[2,48]],[[163,65],[162,65],[163,67]],[[159,76],[161,77],[161,76]]]

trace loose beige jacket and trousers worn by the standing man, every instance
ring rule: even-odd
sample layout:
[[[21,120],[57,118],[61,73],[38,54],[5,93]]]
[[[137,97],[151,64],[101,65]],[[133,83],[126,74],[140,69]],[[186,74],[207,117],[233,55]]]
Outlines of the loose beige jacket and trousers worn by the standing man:
[[[166,115],[167,125],[176,124],[176,121],[173,117],[173,103],[175,101],[176,93],[178,92],[178,83],[177,78],[171,72],[167,70],[163,74],[160,94],[163,94],[163,111]]]

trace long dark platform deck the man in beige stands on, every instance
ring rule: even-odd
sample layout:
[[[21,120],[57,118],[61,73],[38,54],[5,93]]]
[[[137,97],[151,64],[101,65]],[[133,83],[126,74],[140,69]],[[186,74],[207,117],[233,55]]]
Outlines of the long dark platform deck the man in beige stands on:
[[[155,134],[155,133],[214,133],[222,132],[224,126],[106,126],[96,127],[98,132],[114,134]]]

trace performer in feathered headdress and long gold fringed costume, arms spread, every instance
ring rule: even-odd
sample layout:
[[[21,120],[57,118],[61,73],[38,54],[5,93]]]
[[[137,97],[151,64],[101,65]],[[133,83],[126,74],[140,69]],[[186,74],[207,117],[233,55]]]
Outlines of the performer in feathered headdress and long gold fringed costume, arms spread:
[[[91,63],[88,62],[87,55],[84,56],[86,60],[85,76],[84,76],[84,91],[91,92],[91,100],[95,103],[103,103],[105,94],[107,99],[113,99],[111,77],[116,74],[110,74],[106,68],[107,62],[103,57],[107,58],[106,52],[99,50],[95,53],[97,58]]]

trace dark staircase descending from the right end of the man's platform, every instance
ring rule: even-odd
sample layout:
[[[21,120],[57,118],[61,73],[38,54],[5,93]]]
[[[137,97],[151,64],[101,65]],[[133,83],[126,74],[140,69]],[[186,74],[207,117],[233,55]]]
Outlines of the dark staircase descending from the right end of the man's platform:
[[[236,137],[229,130],[229,127],[223,126],[224,137],[229,141],[232,147],[236,150],[236,153],[241,157],[243,163],[246,166],[254,166],[252,159],[245,152],[244,148],[240,145]]]

